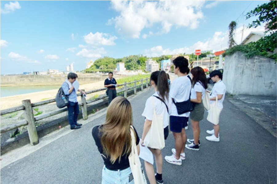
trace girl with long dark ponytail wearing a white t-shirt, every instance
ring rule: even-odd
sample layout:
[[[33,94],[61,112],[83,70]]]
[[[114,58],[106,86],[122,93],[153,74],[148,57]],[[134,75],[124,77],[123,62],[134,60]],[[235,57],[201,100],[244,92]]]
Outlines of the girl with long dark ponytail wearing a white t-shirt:
[[[141,137],[140,144],[144,146],[144,138],[146,134],[148,133],[151,123],[152,123],[152,117],[153,117],[153,111],[154,107],[152,104],[152,101],[155,104],[155,111],[157,115],[163,116],[163,127],[164,127],[164,139],[168,137],[168,110],[170,107],[168,107],[168,94],[169,94],[169,88],[168,88],[168,78],[166,76],[166,73],[164,71],[156,71],[153,72],[150,76],[150,83],[152,88],[155,89],[155,93],[150,96],[145,103],[145,108],[142,113],[142,115],[145,117],[144,127],[143,127],[143,133]],[[160,99],[158,99],[159,97]],[[149,148],[149,147],[148,147]],[[162,152],[160,149],[153,149],[149,148],[150,151],[153,153],[156,161],[156,175],[154,172],[154,167],[151,163],[148,163],[144,161],[145,165],[145,171],[148,177],[148,180],[151,184],[163,183],[162,179],[162,169],[163,169],[163,157]]]

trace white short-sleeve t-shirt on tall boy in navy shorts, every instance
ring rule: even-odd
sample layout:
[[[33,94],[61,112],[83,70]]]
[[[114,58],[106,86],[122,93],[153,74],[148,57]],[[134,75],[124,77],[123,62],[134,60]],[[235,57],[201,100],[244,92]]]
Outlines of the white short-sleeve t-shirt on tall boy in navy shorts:
[[[173,98],[175,102],[184,102],[189,99],[189,93],[192,83],[187,76],[181,76],[176,78],[169,91],[169,98]],[[174,103],[171,106],[171,116],[189,117],[190,112],[178,115],[177,108]]]

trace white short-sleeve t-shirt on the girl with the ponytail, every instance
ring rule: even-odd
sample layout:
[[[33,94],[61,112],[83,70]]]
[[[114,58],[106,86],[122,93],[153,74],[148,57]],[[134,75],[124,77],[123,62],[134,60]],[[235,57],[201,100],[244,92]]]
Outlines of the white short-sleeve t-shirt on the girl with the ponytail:
[[[153,113],[154,113],[153,103],[150,100],[150,99],[152,99],[154,101],[154,104],[155,104],[156,115],[162,115],[163,116],[163,126],[165,128],[165,127],[168,126],[169,115],[168,115],[165,104],[160,99],[156,98],[155,96],[159,96],[159,92],[155,92],[153,94],[153,96],[150,96],[146,100],[142,116],[144,116],[146,119],[152,121]],[[168,100],[165,99],[165,103],[168,106],[168,110],[170,111]]]

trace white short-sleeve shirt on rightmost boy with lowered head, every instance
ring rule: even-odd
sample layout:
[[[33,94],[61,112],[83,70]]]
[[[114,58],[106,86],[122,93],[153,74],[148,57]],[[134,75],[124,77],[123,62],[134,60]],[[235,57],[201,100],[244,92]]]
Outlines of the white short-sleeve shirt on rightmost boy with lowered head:
[[[214,87],[212,88],[212,91],[210,93],[210,98],[219,95],[223,95],[220,100],[217,100],[217,107],[223,109],[223,100],[225,98],[225,92],[226,92],[226,85],[223,81],[218,81]],[[210,100],[210,104],[215,103],[215,100]]]

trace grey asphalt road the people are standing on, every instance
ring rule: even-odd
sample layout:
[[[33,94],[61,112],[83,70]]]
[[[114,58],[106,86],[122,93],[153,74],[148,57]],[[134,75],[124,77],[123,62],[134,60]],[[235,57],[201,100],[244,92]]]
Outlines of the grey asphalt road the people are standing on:
[[[154,93],[146,89],[130,102],[134,126],[141,136],[144,117],[141,116],[146,99]],[[97,112],[100,113],[100,112]],[[93,116],[97,115],[94,114]],[[276,138],[251,117],[224,100],[220,116],[220,142],[209,142],[206,130],[212,124],[205,118],[200,122],[200,150],[185,150],[186,160],[181,166],[164,160],[165,184],[179,183],[276,183]],[[91,117],[90,117],[91,118]],[[79,130],[61,130],[56,140],[1,168],[1,183],[101,183],[103,160],[91,135],[94,126],[105,120],[105,113],[86,123]],[[66,127],[65,129],[69,129]],[[192,138],[189,124],[188,138]],[[43,144],[43,140],[40,140]],[[171,155],[173,135],[166,140],[163,156]],[[26,150],[22,149],[22,153]],[[142,162],[143,163],[143,162]]]

